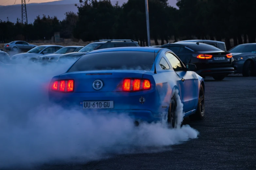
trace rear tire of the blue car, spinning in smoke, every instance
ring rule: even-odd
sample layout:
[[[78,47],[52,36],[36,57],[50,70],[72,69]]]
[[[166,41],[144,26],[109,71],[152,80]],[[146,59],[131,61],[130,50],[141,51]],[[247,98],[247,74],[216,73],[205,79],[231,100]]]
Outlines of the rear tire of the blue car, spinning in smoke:
[[[175,96],[171,99],[171,104],[168,109],[168,127],[169,128],[177,128],[178,120],[176,115],[177,102]]]

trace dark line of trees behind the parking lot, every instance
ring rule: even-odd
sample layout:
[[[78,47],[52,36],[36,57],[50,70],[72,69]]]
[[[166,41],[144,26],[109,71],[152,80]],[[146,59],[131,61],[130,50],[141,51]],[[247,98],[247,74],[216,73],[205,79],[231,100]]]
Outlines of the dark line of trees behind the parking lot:
[[[253,14],[256,1],[243,0],[177,0],[171,7],[167,0],[148,0],[150,37],[159,45],[168,39],[225,40],[227,49],[255,42]],[[97,39],[134,39],[147,46],[145,0],[128,0],[122,6],[110,0],[80,0],[78,12],[67,12],[66,18],[38,16],[34,23],[0,21],[0,41],[17,39],[50,39],[54,32],[62,38],[83,41]]]

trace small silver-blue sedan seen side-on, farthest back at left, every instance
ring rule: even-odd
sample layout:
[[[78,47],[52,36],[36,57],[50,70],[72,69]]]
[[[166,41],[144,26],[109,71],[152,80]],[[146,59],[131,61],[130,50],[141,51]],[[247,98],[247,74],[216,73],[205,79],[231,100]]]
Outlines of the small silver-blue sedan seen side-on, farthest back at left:
[[[5,44],[4,49],[12,50],[12,51],[17,51],[17,50],[28,51],[35,47],[37,47],[37,45],[28,44],[26,41],[12,41],[8,44]]]

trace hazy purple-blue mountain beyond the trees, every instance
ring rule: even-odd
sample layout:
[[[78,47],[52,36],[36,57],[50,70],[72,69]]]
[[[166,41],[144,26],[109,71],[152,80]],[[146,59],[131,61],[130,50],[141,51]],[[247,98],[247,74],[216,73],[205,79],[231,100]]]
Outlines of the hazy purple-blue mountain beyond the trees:
[[[116,4],[118,1],[119,5],[127,2],[128,0],[111,0],[112,4]],[[177,0],[168,0],[170,6],[176,7]],[[43,16],[56,16],[60,21],[65,18],[65,13],[73,11],[77,13],[77,7],[75,4],[79,5],[79,0],[61,0],[46,3],[31,3],[27,4],[27,20],[28,23],[33,23],[35,18],[40,15]],[[21,5],[10,5],[10,6],[0,6],[0,20],[16,22],[17,18],[21,19]]]

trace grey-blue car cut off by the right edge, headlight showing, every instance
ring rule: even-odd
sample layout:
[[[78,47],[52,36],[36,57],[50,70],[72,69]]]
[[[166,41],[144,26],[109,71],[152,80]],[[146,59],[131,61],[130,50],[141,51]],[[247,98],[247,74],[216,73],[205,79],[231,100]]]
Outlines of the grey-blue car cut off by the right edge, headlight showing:
[[[241,44],[228,52],[233,55],[235,73],[244,77],[256,76],[256,43]]]

